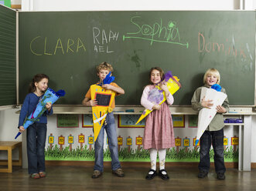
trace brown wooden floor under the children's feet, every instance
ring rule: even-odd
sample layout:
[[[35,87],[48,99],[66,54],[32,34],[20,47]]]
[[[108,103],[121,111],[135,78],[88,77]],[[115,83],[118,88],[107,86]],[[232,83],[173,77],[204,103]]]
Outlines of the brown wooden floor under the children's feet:
[[[123,165],[125,177],[112,175],[110,166],[104,169],[104,174],[98,179],[91,179],[92,166],[47,166],[47,177],[31,179],[27,169],[14,167],[13,173],[0,173],[0,190],[256,190],[256,169],[251,172],[239,172],[228,168],[225,180],[218,180],[214,169],[210,170],[205,179],[197,178],[196,166],[168,166],[166,170],[170,179],[165,181],[159,177],[147,180],[145,166]]]

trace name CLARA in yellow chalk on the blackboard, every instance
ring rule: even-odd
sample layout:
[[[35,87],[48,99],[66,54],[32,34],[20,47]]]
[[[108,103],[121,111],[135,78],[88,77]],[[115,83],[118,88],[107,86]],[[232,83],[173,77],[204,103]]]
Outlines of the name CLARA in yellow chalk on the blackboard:
[[[65,41],[59,38],[56,39],[55,46],[49,46],[47,45],[47,37],[43,38],[42,36],[36,36],[30,42],[30,51],[32,52],[33,55],[65,55],[67,53],[77,53],[80,51],[86,52],[86,49],[84,43],[80,38],[77,38],[76,40],[67,39]]]

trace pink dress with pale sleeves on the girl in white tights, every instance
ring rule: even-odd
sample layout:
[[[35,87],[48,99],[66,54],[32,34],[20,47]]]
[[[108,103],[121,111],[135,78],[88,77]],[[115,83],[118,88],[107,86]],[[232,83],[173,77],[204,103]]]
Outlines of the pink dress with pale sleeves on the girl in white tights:
[[[141,104],[145,109],[152,109],[155,105],[148,101],[148,93],[154,88],[154,85],[147,85],[143,91]],[[144,149],[168,149],[175,146],[172,116],[167,103],[169,105],[173,103],[171,94],[166,98],[166,102],[161,104],[160,110],[154,110],[146,117],[143,138]]]

